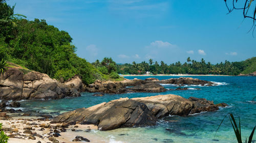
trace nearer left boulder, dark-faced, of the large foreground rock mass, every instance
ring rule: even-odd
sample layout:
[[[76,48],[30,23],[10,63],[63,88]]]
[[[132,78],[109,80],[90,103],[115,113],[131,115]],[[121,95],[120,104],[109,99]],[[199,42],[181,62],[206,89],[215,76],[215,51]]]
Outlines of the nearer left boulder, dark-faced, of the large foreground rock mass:
[[[157,120],[145,104],[120,98],[89,108],[62,113],[54,121],[94,124],[99,130],[112,130],[119,127],[155,125]]]

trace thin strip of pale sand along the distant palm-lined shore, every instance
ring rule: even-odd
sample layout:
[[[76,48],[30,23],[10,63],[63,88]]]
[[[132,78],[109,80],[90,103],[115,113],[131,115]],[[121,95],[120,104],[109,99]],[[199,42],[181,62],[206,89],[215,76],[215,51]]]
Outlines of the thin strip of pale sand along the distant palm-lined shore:
[[[217,75],[217,74],[122,74],[124,76],[234,76],[234,75]]]

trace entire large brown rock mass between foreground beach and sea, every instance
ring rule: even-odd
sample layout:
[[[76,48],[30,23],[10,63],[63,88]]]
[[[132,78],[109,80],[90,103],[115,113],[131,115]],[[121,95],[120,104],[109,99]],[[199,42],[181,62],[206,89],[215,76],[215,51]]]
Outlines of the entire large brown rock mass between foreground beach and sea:
[[[201,111],[215,111],[212,101],[178,95],[158,95],[142,98],[120,98],[89,108],[79,108],[57,116],[52,123],[94,124],[99,130],[155,125],[168,115],[187,116]]]

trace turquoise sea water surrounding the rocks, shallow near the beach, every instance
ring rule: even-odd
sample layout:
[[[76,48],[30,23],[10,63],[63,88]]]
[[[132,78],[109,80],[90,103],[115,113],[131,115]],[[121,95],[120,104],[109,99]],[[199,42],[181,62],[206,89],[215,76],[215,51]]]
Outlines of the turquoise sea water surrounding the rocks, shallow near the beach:
[[[151,76],[127,76],[127,79],[145,79]],[[158,79],[179,78],[178,76],[154,76]],[[187,76],[189,77],[189,76]],[[215,132],[227,113],[241,118],[243,140],[249,136],[256,125],[256,104],[249,102],[256,96],[256,77],[238,76],[191,76],[202,80],[215,81],[214,87],[189,86],[187,91],[166,91],[164,93],[127,93],[105,94],[102,97],[93,93],[82,93],[81,97],[59,100],[23,101],[22,108],[42,113],[59,113],[80,107],[90,107],[121,97],[146,97],[154,95],[176,94],[184,98],[190,96],[206,98],[215,103],[225,102],[229,106],[215,112],[204,112],[188,117],[166,117],[159,120],[157,126],[143,128],[121,128],[112,131],[91,131],[110,142],[237,142],[230,121],[226,118],[216,137]],[[174,85],[164,84],[166,89],[176,89]],[[200,88],[201,90],[195,90]],[[166,130],[170,129],[170,130]],[[254,133],[256,140],[256,133]],[[256,142],[256,141],[254,141]]]

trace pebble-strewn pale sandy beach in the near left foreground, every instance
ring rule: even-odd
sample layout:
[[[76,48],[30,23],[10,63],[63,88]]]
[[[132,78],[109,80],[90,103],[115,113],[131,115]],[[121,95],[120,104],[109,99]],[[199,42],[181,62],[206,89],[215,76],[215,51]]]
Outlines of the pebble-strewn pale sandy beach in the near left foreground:
[[[11,113],[8,116],[7,120],[0,120],[0,123],[3,123],[2,128],[5,134],[10,136],[8,140],[10,143],[81,142],[73,141],[76,136],[87,138],[90,142],[109,142],[105,138],[89,133],[97,130],[95,125],[76,124],[64,128],[62,124],[50,124],[50,121],[39,121],[38,117],[13,116]],[[25,130],[26,132],[24,132]],[[53,137],[55,132],[59,134],[58,137]]]

